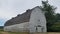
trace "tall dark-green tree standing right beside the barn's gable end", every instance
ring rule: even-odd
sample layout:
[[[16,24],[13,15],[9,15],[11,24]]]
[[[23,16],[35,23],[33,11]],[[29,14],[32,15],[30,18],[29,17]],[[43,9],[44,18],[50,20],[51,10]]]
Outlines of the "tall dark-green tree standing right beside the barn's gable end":
[[[48,1],[42,1],[42,6],[41,6],[42,11],[45,12],[45,17],[47,21],[47,29],[50,31],[50,27],[55,23],[55,9],[56,7],[50,5]]]

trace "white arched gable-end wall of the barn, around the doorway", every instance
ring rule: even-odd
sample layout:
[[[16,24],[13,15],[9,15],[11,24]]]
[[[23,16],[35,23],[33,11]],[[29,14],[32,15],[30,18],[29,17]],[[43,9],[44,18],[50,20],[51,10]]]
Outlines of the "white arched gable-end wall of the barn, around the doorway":
[[[32,11],[29,24],[30,24],[30,26],[29,26],[30,32],[36,32],[36,26],[38,26],[38,25],[43,26],[43,28],[44,28],[43,32],[47,32],[46,31],[46,19],[45,19],[44,13],[38,7],[36,7]],[[39,30],[41,30],[41,29],[39,29]],[[40,32],[42,32],[42,31],[40,31]]]

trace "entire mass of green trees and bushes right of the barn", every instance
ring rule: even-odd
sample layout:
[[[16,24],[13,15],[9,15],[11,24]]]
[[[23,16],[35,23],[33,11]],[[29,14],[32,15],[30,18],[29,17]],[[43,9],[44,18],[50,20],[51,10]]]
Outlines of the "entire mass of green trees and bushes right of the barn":
[[[55,13],[56,7],[50,5],[48,1],[42,1],[41,9],[45,12],[48,32],[60,32],[60,14]]]

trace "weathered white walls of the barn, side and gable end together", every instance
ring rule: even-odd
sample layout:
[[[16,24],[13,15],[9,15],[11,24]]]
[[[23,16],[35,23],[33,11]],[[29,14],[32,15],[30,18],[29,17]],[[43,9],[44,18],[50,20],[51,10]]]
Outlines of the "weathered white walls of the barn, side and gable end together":
[[[37,27],[36,31],[36,26],[41,25],[41,27]],[[47,32],[46,30],[46,19],[44,16],[44,13],[40,10],[39,7],[36,7],[35,9],[32,10],[31,16],[30,16],[30,21],[21,23],[21,24],[16,24],[16,25],[11,25],[11,26],[5,26],[4,31],[12,31],[12,32]]]

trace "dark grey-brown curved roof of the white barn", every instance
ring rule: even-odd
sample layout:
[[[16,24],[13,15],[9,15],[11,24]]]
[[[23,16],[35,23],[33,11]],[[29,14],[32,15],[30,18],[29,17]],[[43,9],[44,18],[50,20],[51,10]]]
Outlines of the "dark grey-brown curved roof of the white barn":
[[[37,6],[39,7],[39,6]],[[36,8],[36,7],[35,7]],[[16,17],[6,21],[6,23],[4,24],[4,26],[10,26],[10,25],[14,25],[14,24],[20,24],[20,23],[25,23],[25,22],[29,22],[30,20],[30,15],[33,9],[28,9],[25,13],[23,14],[18,14]],[[39,7],[40,8],[40,7]]]

